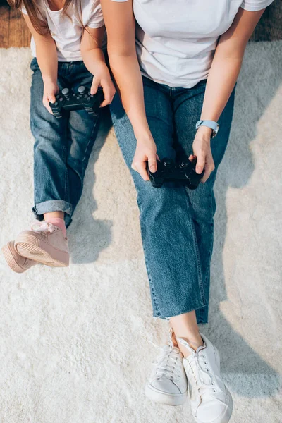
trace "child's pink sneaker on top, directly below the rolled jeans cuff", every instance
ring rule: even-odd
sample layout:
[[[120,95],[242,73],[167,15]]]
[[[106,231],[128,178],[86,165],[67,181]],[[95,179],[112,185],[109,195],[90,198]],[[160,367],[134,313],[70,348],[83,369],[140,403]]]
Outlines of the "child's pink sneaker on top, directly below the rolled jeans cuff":
[[[68,239],[52,223],[33,223],[31,231],[23,231],[16,237],[15,248],[21,256],[47,266],[66,267],[69,264]]]

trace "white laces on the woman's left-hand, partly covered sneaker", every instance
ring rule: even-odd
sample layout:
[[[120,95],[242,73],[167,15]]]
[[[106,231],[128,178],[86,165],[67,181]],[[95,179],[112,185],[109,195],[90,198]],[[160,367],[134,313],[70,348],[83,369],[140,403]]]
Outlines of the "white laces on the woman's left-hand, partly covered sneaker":
[[[153,363],[155,367],[155,377],[156,379],[165,376],[167,379],[173,380],[173,376],[176,373],[176,376],[180,375],[180,360],[182,354],[178,348],[174,347],[171,340],[172,329],[168,332],[168,345],[159,346],[150,341],[155,348],[161,350],[161,354],[157,357],[157,361]]]

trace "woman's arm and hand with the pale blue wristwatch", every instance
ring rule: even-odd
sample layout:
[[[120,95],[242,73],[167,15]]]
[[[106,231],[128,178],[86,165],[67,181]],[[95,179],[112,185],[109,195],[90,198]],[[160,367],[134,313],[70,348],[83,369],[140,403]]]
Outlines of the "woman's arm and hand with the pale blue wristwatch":
[[[207,87],[202,106],[202,120],[218,121],[233,91],[243,61],[247,41],[252,35],[262,11],[249,12],[239,8],[231,27],[219,38],[212,68],[207,78]],[[219,129],[220,130],[220,129]],[[196,133],[193,151],[197,156],[197,173],[202,173],[203,182],[214,170],[210,150],[212,130],[201,126]]]

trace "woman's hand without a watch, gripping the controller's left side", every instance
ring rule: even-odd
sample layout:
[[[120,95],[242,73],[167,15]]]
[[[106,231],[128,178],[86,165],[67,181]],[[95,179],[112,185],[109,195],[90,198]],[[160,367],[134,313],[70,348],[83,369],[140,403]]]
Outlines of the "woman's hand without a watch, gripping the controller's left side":
[[[144,180],[149,180],[147,162],[149,170],[151,172],[156,172],[157,160],[159,160],[157,155],[157,146],[154,143],[152,135],[138,138],[133,163],[131,165],[133,170],[140,173]]]

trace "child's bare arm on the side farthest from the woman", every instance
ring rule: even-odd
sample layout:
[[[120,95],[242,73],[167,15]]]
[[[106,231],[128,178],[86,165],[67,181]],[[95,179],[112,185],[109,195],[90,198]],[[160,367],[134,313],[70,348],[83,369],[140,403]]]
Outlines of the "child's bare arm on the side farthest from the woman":
[[[39,34],[32,26],[30,18],[25,15],[25,13],[23,13],[23,17],[35,40],[37,63],[44,82],[43,104],[46,109],[52,113],[49,102],[54,103],[56,101],[55,94],[59,91],[57,85],[58,56],[56,44],[49,32],[47,32],[46,35]]]

